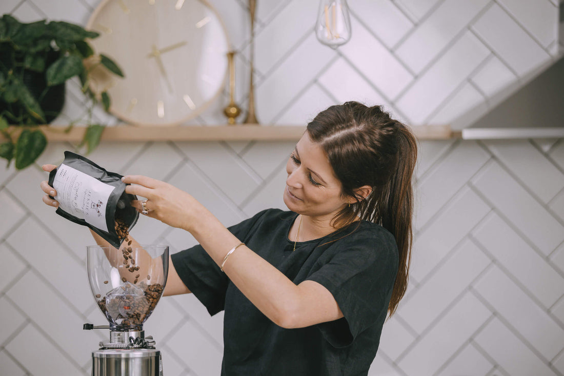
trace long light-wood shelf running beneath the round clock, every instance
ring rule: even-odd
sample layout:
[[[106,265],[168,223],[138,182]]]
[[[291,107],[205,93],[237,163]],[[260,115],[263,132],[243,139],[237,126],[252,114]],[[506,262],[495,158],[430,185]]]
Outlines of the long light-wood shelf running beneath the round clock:
[[[40,125],[51,142],[80,142],[85,127],[76,125],[65,133],[65,126]],[[17,136],[20,127],[11,126]],[[102,141],[293,141],[298,140],[305,126],[300,125],[207,125],[207,126],[135,126],[120,124],[108,126],[102,134]],[[452,132],[449,125],[414,126],[413,133],[419,139],[449,139],[460,137]],[[0,139],[2,135],[0,134]]]

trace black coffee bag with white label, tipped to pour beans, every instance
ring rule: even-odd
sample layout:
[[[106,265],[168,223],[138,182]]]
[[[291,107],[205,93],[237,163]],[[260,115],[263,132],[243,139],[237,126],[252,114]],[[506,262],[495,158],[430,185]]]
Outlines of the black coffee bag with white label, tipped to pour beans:
[[[88,226],[118,248],[133,228],[139,213],[130,205],[135,195],[125,193],[122,175],[108,172],[91,160],[65,151],[63,163],[49,174],[49,185],[59,202],[56,213]]]

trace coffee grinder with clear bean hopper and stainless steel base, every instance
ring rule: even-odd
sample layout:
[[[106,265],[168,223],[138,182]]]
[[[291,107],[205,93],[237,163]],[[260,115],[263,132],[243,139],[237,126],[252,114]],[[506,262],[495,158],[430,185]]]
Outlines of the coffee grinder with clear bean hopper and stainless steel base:
[[[129,242],[131,244],[131,242]],[[92,352],[92,376],[162,376],[161,352],[143,323],[162,296],[168,273],[168,246],[88,246],[92,295],[109,325],[86,323],[83,329],[109,329],[109,340]]]

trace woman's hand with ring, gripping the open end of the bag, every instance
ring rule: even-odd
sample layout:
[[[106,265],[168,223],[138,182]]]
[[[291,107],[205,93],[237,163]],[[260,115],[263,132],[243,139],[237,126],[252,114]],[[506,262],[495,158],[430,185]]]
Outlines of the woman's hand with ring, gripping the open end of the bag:
[[[125,192],[147,199],[146,216],[156,218],[165,224],[187,231],[195,224],[204,207],[190,194],[164,181],[142,175],[128,175],[121,179],[131,184]],[[139,213],[143,211],[143,200],[131,201]]]

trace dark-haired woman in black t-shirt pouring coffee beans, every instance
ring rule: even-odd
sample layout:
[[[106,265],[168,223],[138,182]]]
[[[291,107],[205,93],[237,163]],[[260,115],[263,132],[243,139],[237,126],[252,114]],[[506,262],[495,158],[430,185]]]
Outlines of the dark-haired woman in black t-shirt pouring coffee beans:
[[[171,256],[165,295],[192,292],[210,314],[225,311],[222,375],[366,375],[406,291],[416,156],[406,126],[347,102],[319,113],[294,148],[290,211],[226,229],[168,183],[123,180],[147,198],[138,211],[200,243]]]

